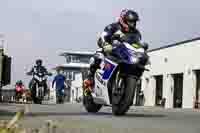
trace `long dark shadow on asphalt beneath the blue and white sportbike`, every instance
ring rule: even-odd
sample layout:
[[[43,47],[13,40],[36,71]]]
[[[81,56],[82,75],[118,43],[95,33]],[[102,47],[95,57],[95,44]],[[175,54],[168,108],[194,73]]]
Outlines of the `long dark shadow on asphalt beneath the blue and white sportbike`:
[[[26,116],[30,117],[40,117],[40,116],[112,116],[112,113],[109,112],[98,112],[98,113],[88,113],[88,112],[66,112],[66,113],[56,113],[56,112],[34,112],[27,113]],[[153,117],[166,117],[166,115],[162,114],[126,114],[124,116],[120,116],[124,118],[134,118],[134,117],[144,117],[144,118],[153,118]]]

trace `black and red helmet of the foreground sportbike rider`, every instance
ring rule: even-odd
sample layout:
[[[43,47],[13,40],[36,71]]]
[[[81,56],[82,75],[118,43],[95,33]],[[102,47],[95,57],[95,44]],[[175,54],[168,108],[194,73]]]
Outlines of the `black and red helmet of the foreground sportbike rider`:
[[[139,21],[139,15],[137,12],[130,9],[123,11],[121,18],[121,20],[123,20],[121,21],[121,24],[124,28],[128,29],[135,29],[136,22]]]

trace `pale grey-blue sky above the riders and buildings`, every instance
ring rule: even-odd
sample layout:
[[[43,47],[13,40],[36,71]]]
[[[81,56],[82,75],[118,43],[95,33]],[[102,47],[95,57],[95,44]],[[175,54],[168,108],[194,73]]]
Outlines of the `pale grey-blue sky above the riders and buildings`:
[[[0,0],[0,34],[12,57],[12,83],[27,82],[35,59],[47,69],[65,63],[64,51],[93,51],[97,33],[116,21],[121,9],[136,10],[138,29],[150,48],[199,36],[197,0]]]

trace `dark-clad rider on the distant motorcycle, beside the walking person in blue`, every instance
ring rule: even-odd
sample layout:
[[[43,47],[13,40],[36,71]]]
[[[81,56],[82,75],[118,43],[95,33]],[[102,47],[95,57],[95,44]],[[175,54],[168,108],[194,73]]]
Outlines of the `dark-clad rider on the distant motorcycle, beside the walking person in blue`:
[[[49,75],[49,73],[47,72],[47,69],[42,65],[42,60],[41,59],[37,59],[36,62],[35,62],[35,66],[32,67],[32,69],[27,72],[28,75],[35,75],[35,74],[38,74],[38,73],[43,73],[44,75]],[[32,90],[32,89],[35,89],[35,86],[34,86],[34,79],[32,78],[30,83],[29,83],[29,88]],[[34,93],[35,93],[35,90],[34,90]],[[47,93],[47,83],[45,82],[44,84],[44,94],[46,95]]]

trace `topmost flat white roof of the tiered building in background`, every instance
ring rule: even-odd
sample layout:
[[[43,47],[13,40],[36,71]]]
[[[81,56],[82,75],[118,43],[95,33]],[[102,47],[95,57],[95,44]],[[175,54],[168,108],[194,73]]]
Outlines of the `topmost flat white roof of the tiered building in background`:
[[[66,51],[61,53],[59,56],[67,56],[67,55],[93,55],[95,51]]]

